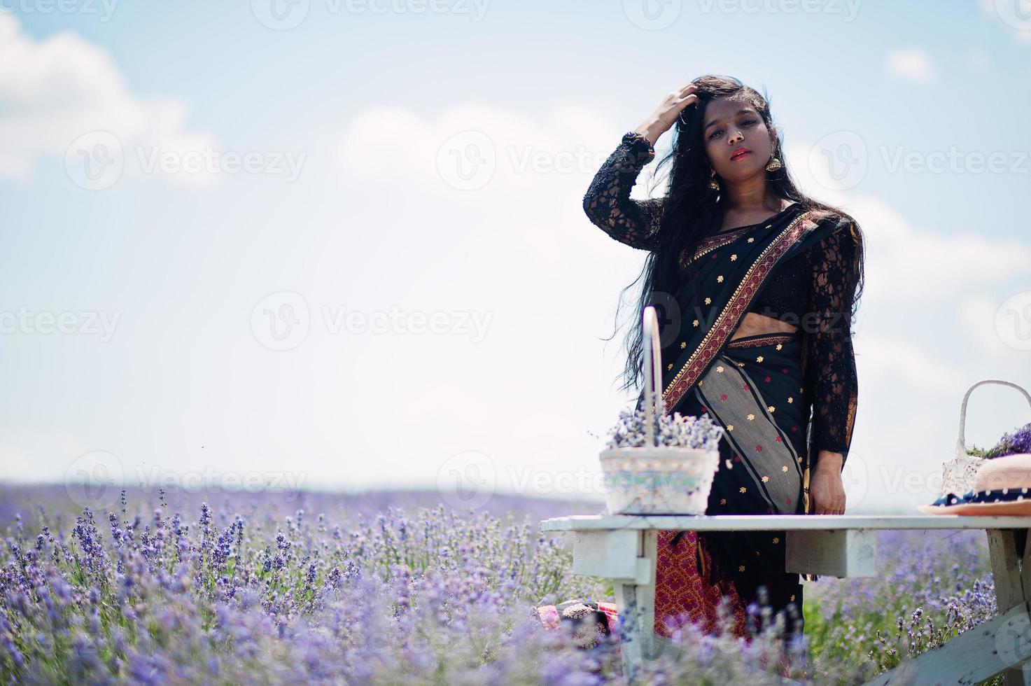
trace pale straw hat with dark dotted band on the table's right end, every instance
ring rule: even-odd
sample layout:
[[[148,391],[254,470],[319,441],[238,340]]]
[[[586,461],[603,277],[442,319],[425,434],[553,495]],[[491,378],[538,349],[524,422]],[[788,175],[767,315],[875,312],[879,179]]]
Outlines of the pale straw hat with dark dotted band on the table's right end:
[[[973,490],[946,493],[921,512],[932,515],[1031,515],[1031,453],[985,460]]]

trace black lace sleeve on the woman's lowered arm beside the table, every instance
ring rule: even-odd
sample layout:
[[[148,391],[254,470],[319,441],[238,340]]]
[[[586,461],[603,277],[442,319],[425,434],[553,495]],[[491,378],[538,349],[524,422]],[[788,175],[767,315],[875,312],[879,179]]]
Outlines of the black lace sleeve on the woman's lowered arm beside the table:
[[[810,311],[816,326],[808,338],[814,365],[812,398],[812,460],[820,451],[849,457],[856,422],[859,383],[852,346],[852,308],[858,277],[860,247],[854,224],[842,224],[810,250],[812,294]]]

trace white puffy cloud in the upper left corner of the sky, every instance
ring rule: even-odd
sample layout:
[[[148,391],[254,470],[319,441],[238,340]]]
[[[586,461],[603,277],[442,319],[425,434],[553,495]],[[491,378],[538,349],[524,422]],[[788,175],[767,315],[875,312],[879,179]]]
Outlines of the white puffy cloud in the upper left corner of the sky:
[[[42,156],[64,158],[84,134],[108,131],[121,141],[126,173],[139,173],[137,151],[156,146],[181,156],[213,146],[187,130],[187,104],[132,95],[108,54],[63,31],[35,40],[0,12],[0,176],[29,176]],[[164,174],[173,183],[212,181],[208,173]]]

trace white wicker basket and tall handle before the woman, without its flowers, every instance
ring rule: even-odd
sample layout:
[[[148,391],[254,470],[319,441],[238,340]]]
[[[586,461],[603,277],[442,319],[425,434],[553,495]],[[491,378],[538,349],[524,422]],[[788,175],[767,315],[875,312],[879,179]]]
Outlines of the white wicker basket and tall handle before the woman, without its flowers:
[[[655,307],[644,308],[644,407],[647,446],[616,448],[601,453],[608,486],[605,505],[612,515],[703,515],[720,451],[657,446],[655,423],[665,412],[662,399],[662,353]],[[655,403],[648,398],[655,398]]]

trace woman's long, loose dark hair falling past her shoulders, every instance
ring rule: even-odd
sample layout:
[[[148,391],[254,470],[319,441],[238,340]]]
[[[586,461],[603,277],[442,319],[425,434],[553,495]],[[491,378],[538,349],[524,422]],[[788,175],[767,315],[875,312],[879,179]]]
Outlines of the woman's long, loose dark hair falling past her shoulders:
[[[644,308],[655,305],[660,320],[660,340],[662,347],[670,342],[669,336],[676,331],[668,330],[664,323],[673,318],[667,317],[668,305],[677,285],[692,279],[696,273],[694,264],[680,264],[681,255],[692,256],[702,241],[723,225],[724,207],[720,204],[721,191],[709,186],[711,165],[705,153],[705,142],[702,139],[702,116],[705,106],[714,98],[727,97],[745,102],[756,108],[767,128],[772,124],[769,101],[755,89],[744,86],[731,76],[707,74],[694,81],[699,88],[698,103],[690,105],[680,111],[676,125],[673,127],[673,144],[669,154],[663,158],[656,170],[669,165],[669,185],[662,203],[662,217],[659,224],[658,248],[648,253],[644,260],[641,273],[629,286],[620,292],[620,301],[616,308],[616,330],[612,336],[603,338],[610,340],[619,330],[620,309],[623,295],[643,280],[640,295],[636,305],[636,317],[629,322],[625,349],[627,351],[626,366],[623,371],[624,384],[620,390],[639,389],[643,375],[643,351],[641,336],[641,316]],[[804,211],[824,210],[827,216],[836,217],[839,222],[850,222],[855,226],[854,238],[858,241],[858,268],[854,273],[855,300],[851,315],[850,326],[855,321],[859,298],[863,290],[863,240],[859,224],[847,214],[803,195],[798,190],[787,161],[783,154],[783,139],[777,130],[776,141],[773,144],[773,157],[779,160],[780,168],[766,171],[769,188],[774,195],[798,202]],[[719,177],[718,177],[719,178]],[[653,179],[654,181],[654,179]],[[653,184],[654,190],[654,184]],[[804,334],[803,334],[804,335]],[[666,359],[666,355],[663,355]],[[639,391],[637,391],[639,392]]]

